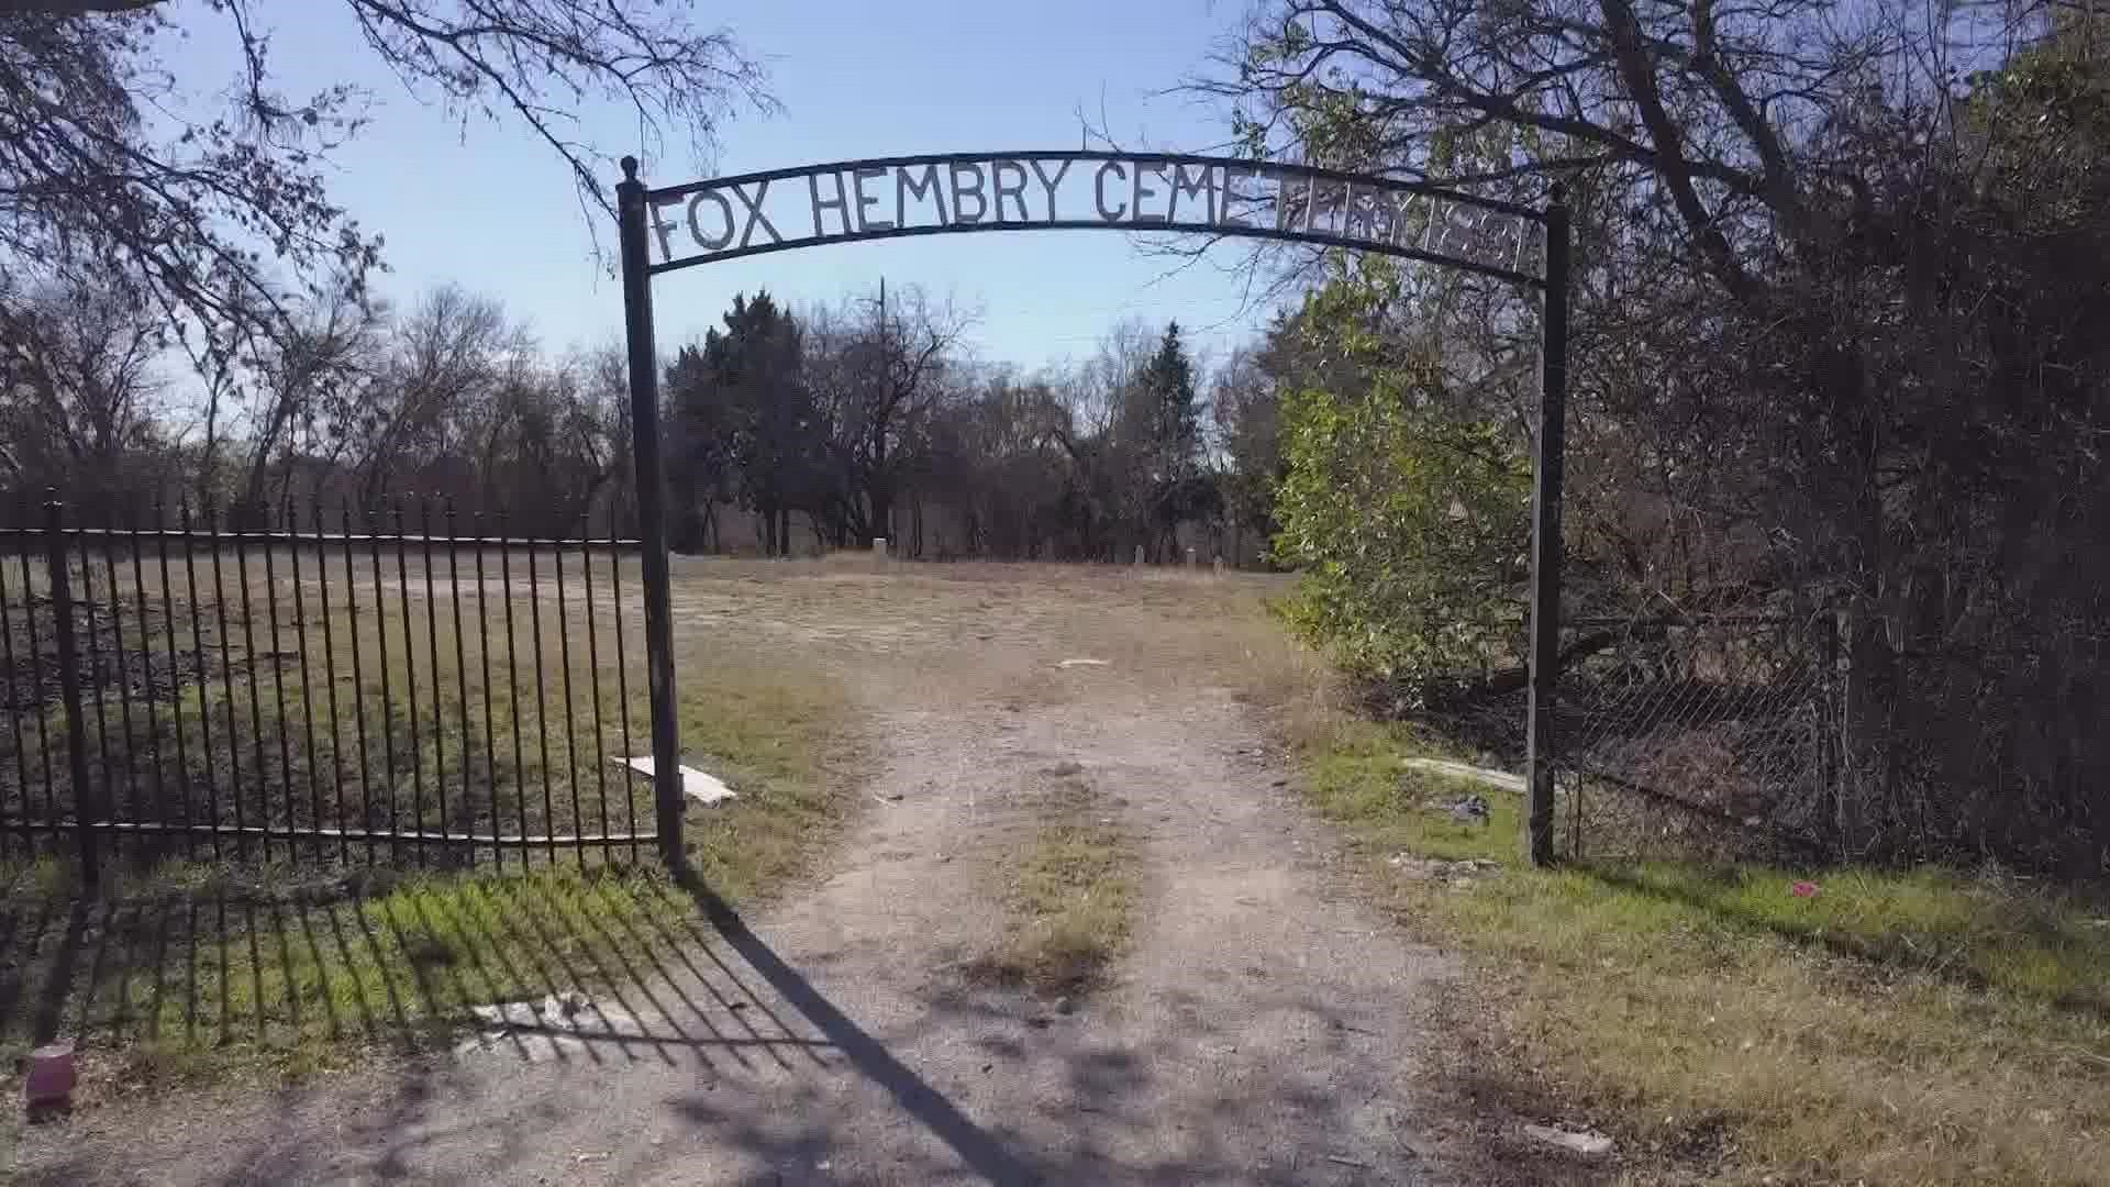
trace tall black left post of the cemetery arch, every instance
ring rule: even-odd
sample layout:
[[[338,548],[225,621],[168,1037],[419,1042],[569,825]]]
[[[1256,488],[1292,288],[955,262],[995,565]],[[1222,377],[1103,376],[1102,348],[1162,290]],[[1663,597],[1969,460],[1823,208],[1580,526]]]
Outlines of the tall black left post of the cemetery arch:
[[[673,693],[673,610],[667,596],[667,479],[660,473],[658,353],[652,344],[652,256],[646,239],[646,186],[637,158],[622,158],[616,186],[622,249],[622,327],[631,357],[631,469],[637,484],[637,551],[646,587],[646,678],[652,689],[652,805],[660,858],[684,874],[682,722]]]

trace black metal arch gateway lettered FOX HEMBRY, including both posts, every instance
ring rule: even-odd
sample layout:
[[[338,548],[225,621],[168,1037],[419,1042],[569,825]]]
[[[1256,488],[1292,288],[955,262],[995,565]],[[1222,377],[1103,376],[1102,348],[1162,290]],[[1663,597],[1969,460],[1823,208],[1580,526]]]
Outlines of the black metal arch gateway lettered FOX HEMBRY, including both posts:
[[[658,439],[652,277],[770,251],[985,230],[1186,232],[1374,251],[1536,289],[1540,431],[1532,482],[1530,784],[1526,851],[1553,860],[1551,710],[1559,657],[1561,450],[1568,391],[1568,207],[1447,186],[1165,152],[941,152],[798,165],[648,188],[637,158],[616,186],[629,344],[631,450],[652,691],[652,798],[660,855],[686,870],[675,716],[667,490]],[[1532,230],[1542,234],[1532,234]]]

